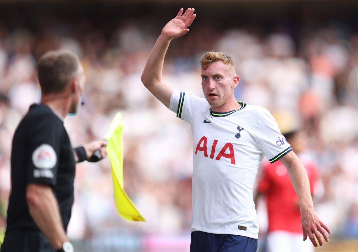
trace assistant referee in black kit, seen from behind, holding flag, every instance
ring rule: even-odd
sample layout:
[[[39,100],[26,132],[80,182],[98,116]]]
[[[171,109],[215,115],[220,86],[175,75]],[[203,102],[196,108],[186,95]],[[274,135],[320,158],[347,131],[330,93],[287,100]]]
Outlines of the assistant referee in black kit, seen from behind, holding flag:
[[[105,140],[72,148],[63,121],[76,113],[85,76],[70,51],[50,51],[37,65],[42,97],[21,120],[11,150],[11,194],[1,252],[73,252],[66,236],[76,162],[91,160]],[[98,157],[99,158],[99,157]]]

